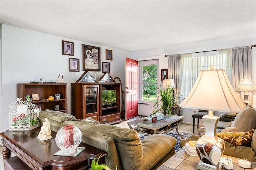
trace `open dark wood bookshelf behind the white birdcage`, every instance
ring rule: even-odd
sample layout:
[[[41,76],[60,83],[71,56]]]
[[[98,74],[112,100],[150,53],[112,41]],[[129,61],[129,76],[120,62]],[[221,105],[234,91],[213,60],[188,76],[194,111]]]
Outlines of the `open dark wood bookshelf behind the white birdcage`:
[[[55,94],[60,94],[60,99],[55,98]],[[55,106],[59,105],[58,111],[67,113],[67,84],[66,83],[44,83],[44,84],[17,84],[17,98],[26,100],[27,95],[38,94],[38,100],[32,100],[32,103],[37,105],[44,111],[45,109],[56,110]],[[53,100],[46,100],[53,96]]]

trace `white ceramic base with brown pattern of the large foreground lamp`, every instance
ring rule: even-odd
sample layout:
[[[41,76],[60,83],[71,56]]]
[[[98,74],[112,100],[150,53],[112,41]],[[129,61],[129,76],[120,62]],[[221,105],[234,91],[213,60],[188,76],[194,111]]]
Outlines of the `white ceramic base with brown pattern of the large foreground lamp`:
[[[196,152],[201,160],[200,170],[218,170],[220,157],[225,148],[225,142],[216,136],[216,127],[219,117],[202,117],[206,134],[196,142]]]

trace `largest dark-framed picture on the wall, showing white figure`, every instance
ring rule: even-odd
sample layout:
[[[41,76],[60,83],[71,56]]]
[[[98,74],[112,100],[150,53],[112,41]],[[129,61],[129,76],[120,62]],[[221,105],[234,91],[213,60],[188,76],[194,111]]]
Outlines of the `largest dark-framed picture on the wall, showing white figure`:
[[[100,71],[100,47],[83,44],[83,70]]]

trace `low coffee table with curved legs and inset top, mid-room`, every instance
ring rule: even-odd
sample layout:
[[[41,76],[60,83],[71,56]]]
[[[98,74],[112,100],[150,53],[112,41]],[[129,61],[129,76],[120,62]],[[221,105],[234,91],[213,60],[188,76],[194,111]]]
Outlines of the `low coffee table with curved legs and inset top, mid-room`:
[[[180,132],[178,131],[178,125],[180,125],[182,123],[184,116],[174,115],[174,116],[170,117],[170,115],[168,115],[164,119],[161,119],[157,122],[152,122],[151,116],[148,116],[146,118],[148,118],[147,121],[145,121],[144,118],[142,118],[142,119],[130,121],[127,124],[129,126],[129,128],[135,129],[138,132],[146,132],[146,133],[151,133],[151,134],[166,133],[166,132],[176,128],[177,133],[183,139],[182,134],[180,134]],[[132,127],[131,125],[135,126],[135,127]]]

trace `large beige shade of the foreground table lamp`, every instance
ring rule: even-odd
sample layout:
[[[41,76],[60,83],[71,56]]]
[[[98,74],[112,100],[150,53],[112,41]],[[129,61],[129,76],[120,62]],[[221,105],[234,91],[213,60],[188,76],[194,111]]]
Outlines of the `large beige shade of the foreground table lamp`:
[[[245,106],[223,69],[200,71],[192,90],[179,105],[220,112],[239,112]]]

